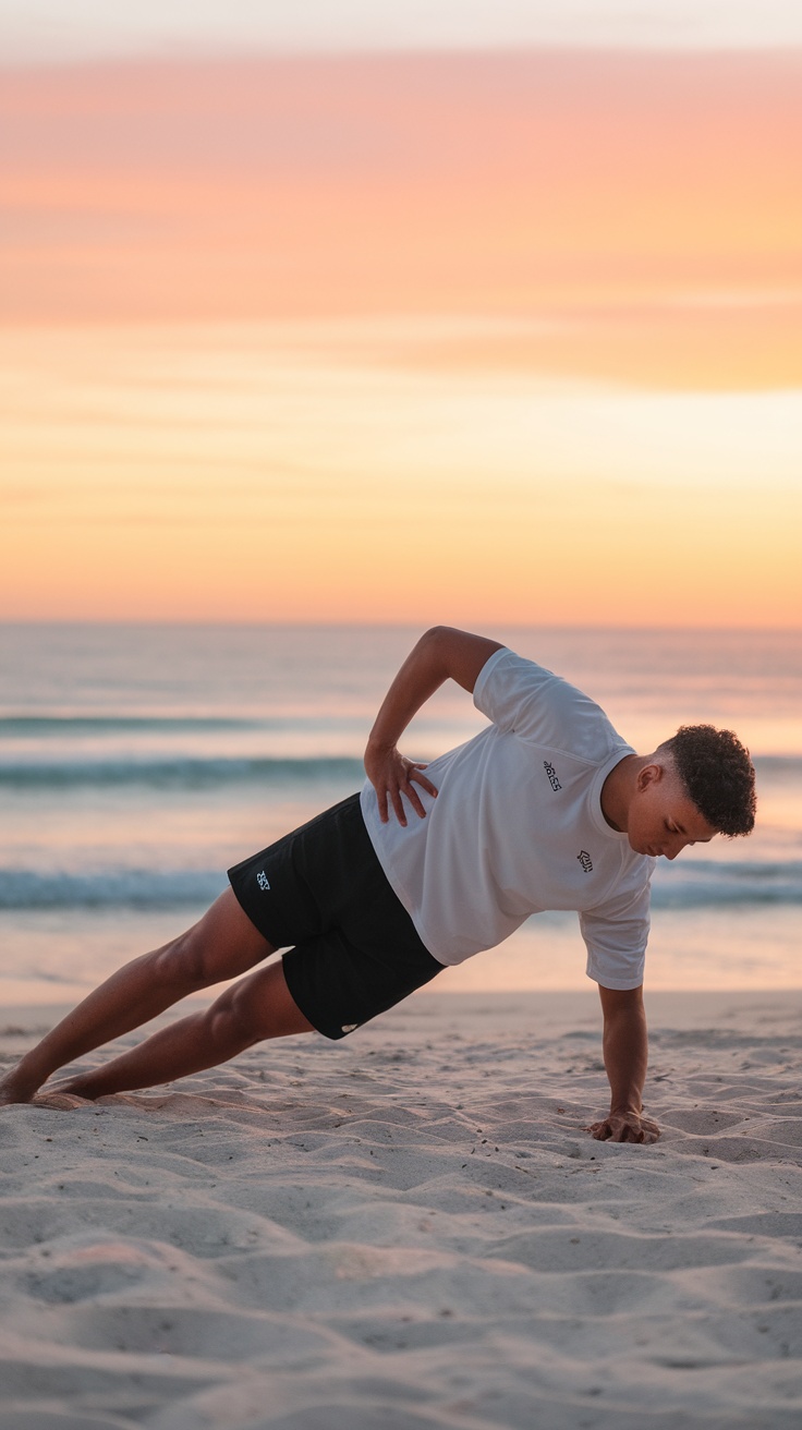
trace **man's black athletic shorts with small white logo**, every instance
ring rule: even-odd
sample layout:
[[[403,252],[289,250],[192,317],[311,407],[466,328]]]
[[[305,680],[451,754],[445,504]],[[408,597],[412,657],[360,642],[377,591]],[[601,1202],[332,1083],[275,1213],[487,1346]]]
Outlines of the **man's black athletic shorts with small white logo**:
[[[342,1038],[442,972],[379,864],[359,795],[229,869],[244,912],[284,954],[310,1024]]]

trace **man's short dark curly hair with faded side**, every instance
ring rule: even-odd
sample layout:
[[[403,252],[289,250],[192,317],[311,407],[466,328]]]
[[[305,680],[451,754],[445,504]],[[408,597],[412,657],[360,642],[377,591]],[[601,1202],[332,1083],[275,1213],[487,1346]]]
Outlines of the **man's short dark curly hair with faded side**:
[[[755,766],[731,729],[680,725],[660,745],[670,754],[690,801],[711,828],[733,838],[755,828]]]

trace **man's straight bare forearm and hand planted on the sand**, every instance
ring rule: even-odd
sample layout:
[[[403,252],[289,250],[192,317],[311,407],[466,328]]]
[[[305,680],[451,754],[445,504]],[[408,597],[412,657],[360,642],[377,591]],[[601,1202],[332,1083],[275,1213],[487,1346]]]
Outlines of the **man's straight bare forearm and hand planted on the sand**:
[[[586,1131],[598,1141],[656,1143],[660,1130],[643,1117],[649,1060],[643,988],[603,988],[599,984],[599,997],[605,1018],[602,1045],[610,1084],[610,1111]]]

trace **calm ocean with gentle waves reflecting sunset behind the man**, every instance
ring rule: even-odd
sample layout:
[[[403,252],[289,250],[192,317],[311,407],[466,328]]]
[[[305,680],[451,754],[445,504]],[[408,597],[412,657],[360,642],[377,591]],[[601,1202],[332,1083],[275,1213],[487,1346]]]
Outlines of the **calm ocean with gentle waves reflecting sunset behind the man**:
[[[226,868],[363,781],[375,711],[417,631],[0,626],[0,1000],[71,1001],[194,922]],[[487,631],[588,691],[652,749],[679,724],[738,731],[758,829],[660,861],[646,984],[802,987],[802,632]],[[483,716],[456,686],[402,748]],[[590,987],[575,915],[528,921],[433,990]]]

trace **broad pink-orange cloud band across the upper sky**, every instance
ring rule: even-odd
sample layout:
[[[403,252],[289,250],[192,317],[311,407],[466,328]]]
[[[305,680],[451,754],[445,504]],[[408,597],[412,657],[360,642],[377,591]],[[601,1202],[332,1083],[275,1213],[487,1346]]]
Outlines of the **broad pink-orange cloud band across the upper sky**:
[[[592,315],[558,370],[799,376],[799,54],[11,72],[0,124],[10,320]]]

